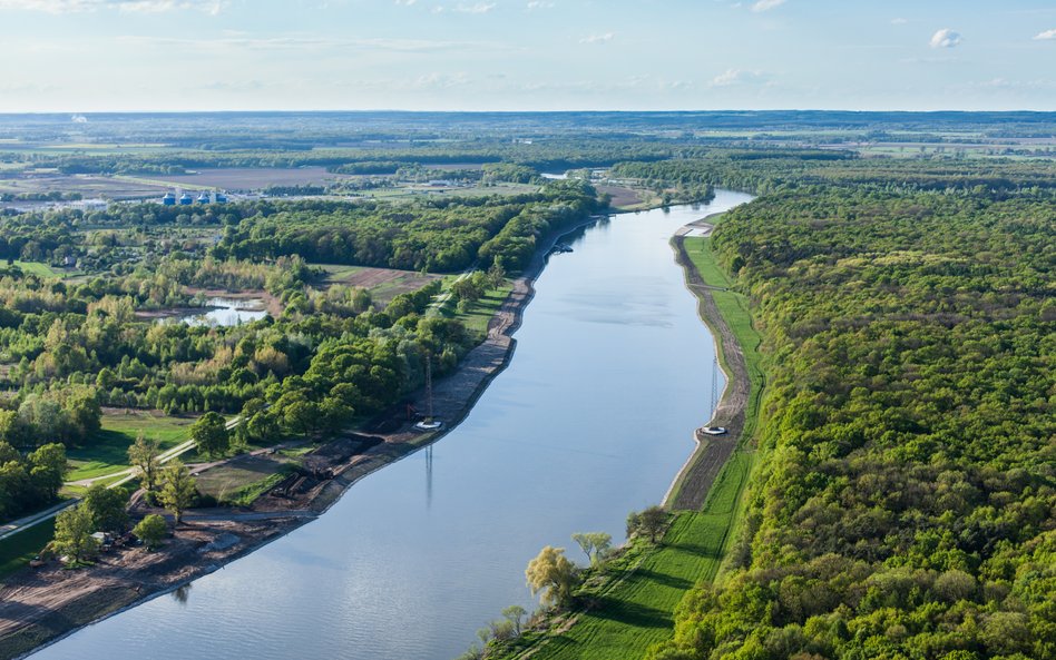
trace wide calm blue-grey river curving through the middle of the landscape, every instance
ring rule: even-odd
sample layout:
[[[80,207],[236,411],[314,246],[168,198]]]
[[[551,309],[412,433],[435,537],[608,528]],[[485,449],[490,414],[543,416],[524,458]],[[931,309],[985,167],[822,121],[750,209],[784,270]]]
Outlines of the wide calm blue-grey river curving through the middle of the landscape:
[[[658,503],[693,450],[713,343],[668,240],[749,199],[718,191],[571,235],[575,252],[536,283],[509,368],[431,452],[35,659],[451,660],[506,605],[531,609],[524,571],[540,548],[583,563],[574,532],[622,541],[627,513]]]

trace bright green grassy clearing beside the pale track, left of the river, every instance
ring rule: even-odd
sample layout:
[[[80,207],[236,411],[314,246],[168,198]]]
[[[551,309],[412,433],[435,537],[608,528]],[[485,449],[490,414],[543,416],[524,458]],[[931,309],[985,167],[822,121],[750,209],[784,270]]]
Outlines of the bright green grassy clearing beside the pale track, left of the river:
[[[163,450],[176,446],[187,440],[187,433],[194,420],[166,417],[147,412],[129,414],[107,414],[102,416],[102,428],[90,446],[69,450],[67,456],[72,470],[67,481],[96,479],[126,470],[128,447],[136,442],[143,431],[148,440],[156,440]]]

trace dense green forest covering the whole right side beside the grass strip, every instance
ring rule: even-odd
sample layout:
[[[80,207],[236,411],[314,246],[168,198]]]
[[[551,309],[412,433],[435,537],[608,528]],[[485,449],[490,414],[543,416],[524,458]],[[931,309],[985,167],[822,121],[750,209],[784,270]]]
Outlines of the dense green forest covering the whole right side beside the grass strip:
[[[1052,164],[722,160],[771,190],[713,239],[771,356],[764,461],[649,658],[1056,658]]]

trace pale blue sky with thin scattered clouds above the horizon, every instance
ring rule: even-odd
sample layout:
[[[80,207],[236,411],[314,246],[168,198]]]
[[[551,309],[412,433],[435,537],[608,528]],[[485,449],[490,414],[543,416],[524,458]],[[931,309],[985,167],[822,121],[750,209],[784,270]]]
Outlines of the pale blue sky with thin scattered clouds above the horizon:
[[[1056,110],[1053,0],[0,0],[0,111]]]

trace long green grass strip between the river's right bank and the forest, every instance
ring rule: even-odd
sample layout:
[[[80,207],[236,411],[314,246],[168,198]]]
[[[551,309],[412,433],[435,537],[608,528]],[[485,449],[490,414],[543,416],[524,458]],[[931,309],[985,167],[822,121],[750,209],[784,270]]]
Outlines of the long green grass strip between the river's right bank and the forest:
[[[711,250],[710,239],[690,238],[686,250],[694,267],[711,286],[729,288],[731,282]],[[761,337],[752,326],[747,298],[732,290],[713,290],[715,304],[744,353],[751,396],[740,446],[715,479],[701,511],[681,511],[661,545],[636,568],[597,597],[599,607],[578,614],[576,623],[511,644],[499,658],[532,660],[641,660],[653,644],[669,639],[674,611],[686,591],[701,580],[718,575],[723,558],[735,538],[744,509],[749,479],[757,462],[752,434],[759,423],[759,401],[764,384]],[[720,352],[722,353],[722,352]],[[720,355],[725,364],[725,356]],[[729,371],[729,370],[727,370]]]

